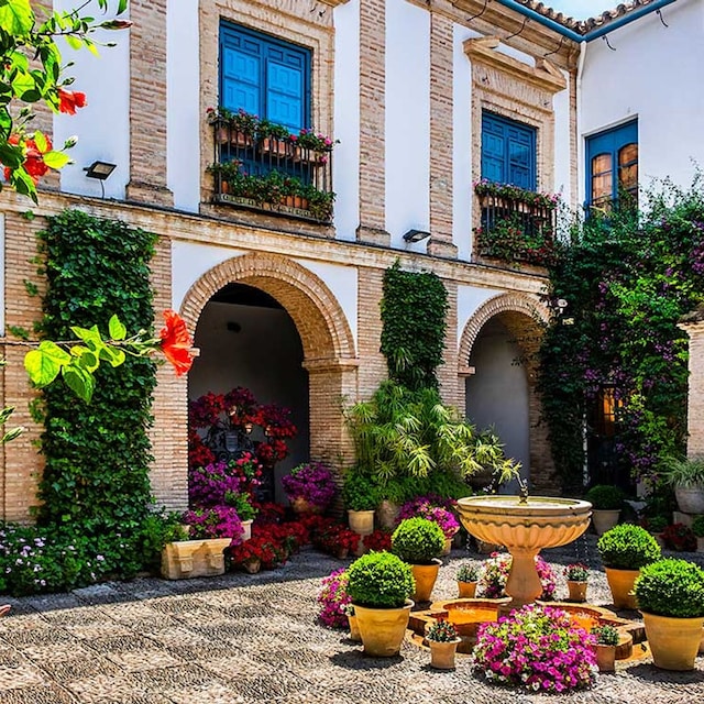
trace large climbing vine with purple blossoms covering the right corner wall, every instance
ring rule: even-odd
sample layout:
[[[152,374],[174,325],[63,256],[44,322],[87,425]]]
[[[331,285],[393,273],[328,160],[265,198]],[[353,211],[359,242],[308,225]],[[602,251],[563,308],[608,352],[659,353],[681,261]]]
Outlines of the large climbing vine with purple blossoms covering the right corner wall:
[[[593,217],[550,268],[556,315],[540,351],[539,388],[553,459],[580,483],[583,427],[605,388],[616,407],[622,476],[657,481],[686,437],[688,340],[680,318],[704,299],[704,191],[666,185],[640,211]],[[565,324],[570,323],[570,324]]]

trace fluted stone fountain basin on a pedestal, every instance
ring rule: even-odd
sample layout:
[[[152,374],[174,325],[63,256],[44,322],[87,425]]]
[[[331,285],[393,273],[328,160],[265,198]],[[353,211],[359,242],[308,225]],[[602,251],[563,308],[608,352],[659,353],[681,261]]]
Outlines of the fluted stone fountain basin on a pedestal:
[[[592,504],[574,498],[528,496],[468,496],[458,502],[462,524],[480,540],[505,546],[512,554],[506,594],[512,601],[502,610],[520,608],[542,593],[536,556],[542,548],[558,548],[576,540],[588,527]]]

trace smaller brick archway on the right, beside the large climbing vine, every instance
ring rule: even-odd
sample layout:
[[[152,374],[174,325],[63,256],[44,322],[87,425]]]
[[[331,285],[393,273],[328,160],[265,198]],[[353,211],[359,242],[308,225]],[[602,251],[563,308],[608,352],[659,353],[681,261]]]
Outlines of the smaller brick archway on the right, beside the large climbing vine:
[[[482,328],[492,319],[498,319],[520,349],[521,364],[528,385],[528,422],[530,438],[530,482],[537,493],[559,490],[554,476],[547,430],[540,424],[541,407],[536,391],[537,352],[542,331],[550,319],[546,306],[536,298],[521,294],[501,294],[482,304],[468,320],[460,337],[458,375],[470,375],[469,361]],[[465,384],[460,383],[460,407],[465,408]]]

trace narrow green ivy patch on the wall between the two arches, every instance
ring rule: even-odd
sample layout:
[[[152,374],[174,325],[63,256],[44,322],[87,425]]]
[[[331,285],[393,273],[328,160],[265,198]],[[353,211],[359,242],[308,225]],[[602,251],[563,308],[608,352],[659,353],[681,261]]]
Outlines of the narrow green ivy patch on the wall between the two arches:
[[[438,388],[444,349],[448,292],[431,272],[384,273],[382,353],[392,380],[409,389]]]

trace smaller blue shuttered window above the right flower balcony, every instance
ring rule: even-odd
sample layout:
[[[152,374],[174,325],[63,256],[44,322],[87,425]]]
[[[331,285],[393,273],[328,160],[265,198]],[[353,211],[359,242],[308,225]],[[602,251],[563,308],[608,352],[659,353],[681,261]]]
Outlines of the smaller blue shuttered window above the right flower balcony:
[[[535,190],[536,129],[484,111],[482,178]]]

